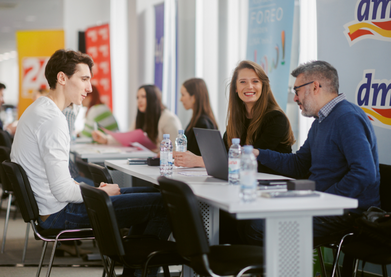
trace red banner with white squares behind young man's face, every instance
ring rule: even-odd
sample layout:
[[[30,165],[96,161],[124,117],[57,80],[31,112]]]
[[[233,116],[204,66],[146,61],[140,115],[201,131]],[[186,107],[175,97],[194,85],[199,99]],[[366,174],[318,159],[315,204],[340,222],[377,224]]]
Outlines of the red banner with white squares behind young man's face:
[[[86,30],[86,52],[95,64],[91,84],[98,88],[101,101],[112,110],[109,24]]]

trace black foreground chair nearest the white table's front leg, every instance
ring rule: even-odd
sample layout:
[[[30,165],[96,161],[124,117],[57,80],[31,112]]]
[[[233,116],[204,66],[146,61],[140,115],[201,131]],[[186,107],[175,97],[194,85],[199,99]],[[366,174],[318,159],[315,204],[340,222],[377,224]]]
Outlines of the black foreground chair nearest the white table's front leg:
[[[263,274],[263,248],[250,245],[209,246],[191,188],[174,179],[158,178],[182,257],[201,276],[241,276],[245,272]]]

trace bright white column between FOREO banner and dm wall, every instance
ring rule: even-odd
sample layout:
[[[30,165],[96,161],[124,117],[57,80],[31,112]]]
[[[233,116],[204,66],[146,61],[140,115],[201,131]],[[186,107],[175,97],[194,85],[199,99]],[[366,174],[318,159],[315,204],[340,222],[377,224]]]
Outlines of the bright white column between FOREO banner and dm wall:
[[[318,59],[318,36],[316,23],[316,0],[300,1],[300,54],[299,64],[309,60]],[[298,146],[304,144],[308,131],[314,121],[313,118],[306,118],[301,115],[299,109],[299,138]]]

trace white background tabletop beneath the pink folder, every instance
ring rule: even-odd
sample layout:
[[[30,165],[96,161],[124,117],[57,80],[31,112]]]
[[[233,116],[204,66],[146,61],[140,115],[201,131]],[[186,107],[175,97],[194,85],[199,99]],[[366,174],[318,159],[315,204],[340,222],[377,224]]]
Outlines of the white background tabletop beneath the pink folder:
[[[76,157],[87,159],[87,162],[103,162],[105,159],[150,158],[156,153],[140,146],[143,150],[135,151],[134,147],[105,145],[96,143],[75,143],[70,145],[70,152]]]

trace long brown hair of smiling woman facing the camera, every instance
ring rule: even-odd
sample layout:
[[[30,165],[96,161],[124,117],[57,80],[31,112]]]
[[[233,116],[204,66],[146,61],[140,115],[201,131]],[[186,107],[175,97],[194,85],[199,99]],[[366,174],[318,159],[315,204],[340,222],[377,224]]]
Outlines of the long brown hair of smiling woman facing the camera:
[[[273,96],[273,93],[270,89],[269,78],[259,64],[250,60],[243,60],[235,68],[229,86],[229,101],[227,114],[228,146],[231,146],[231,141],[233,138],[241,138],[243,132],[245,132],[243,123],[246,119],[246,107],[243,101],[239,98],[236,87],[236,81],[238,79],[239,71],[244,68],[253,69],[262,82],[261,97],[254,104],[251,110],[253,118],[251,119],[250,125],[247,129],[246,144],[253,144],[253,142],[257,139],[257,130],[262,123],[262,119],[268,112],[271,111],[282,112],[287,121],[285,137],[282,139],[281,143],[286,145],[294,144],[295,137],[293,136],[293,131],[290,126],[289,119],[286,117],[285,113],[282,111],[280,105],[277,103],[276,99]]]

